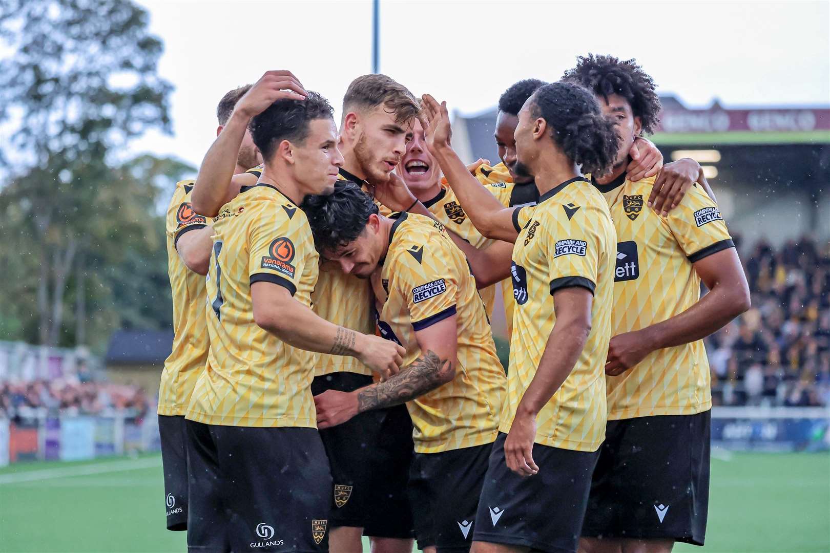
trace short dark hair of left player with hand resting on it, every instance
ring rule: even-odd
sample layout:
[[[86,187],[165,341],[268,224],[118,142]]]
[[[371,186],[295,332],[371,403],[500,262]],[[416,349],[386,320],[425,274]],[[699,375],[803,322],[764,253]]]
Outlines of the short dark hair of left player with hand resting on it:
[[[305,99],[278,99],[248,124],[256,148],[271,159],[283,140],[302,143],[309,135],[309,123],[315,119],[334,119],[329,100],[308,91]]]

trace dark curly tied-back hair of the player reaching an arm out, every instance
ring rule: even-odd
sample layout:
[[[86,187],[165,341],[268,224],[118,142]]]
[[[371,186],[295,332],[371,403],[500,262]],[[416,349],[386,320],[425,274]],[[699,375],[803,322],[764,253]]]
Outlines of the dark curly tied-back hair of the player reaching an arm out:
[[[612,167],[619,148],[617,132],[593,94],[559,81],[540,87],[532,98],[530,114],[547,122],[554,143],[583,172],[601,174]]]

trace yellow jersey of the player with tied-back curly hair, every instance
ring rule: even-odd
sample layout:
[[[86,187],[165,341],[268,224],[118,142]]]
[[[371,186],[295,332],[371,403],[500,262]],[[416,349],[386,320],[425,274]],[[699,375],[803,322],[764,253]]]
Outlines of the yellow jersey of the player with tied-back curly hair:
[[[500,429],[510,431],[547,346],[556,322],[553,293],[582,286],[593,292],[591,332],[574,370],[536,417],[535,442],[596,451],[605,439],[603,376],[617,254],[608,204],[588,180],[578,177],[540,196],[539,205],[517,208],[514,222],[519,230],[510,271],[514,332]]]

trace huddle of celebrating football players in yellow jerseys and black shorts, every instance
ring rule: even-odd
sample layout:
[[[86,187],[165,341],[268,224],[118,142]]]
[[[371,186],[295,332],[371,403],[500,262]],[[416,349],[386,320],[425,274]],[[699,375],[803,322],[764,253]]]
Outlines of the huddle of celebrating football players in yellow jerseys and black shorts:
[[[467,166],[446,104],[386,75],[339,129],[290,71],[228,92],[167,217],[188,551],[702,545],[702,338],[749,289],[700,165],[643,138],[659,111],[635,61],[580,57],[511,85],[501,163]]]

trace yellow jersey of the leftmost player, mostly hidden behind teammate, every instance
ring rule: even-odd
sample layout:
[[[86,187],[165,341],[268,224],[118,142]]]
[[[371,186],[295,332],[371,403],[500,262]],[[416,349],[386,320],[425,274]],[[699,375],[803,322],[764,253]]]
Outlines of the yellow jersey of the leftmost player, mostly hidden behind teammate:
[[[184,415],[190,394],[207,361],[205,278],[184,264],[176,251],[178,238],[211,224],[190,206],[193,181],[176,183],[167,208],[167,273],[173,292],[173,352],[164,361],[159,385],[159,415]]]

